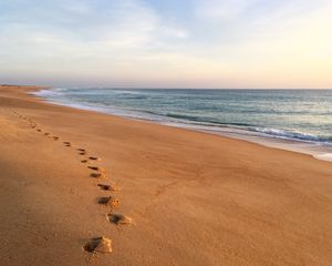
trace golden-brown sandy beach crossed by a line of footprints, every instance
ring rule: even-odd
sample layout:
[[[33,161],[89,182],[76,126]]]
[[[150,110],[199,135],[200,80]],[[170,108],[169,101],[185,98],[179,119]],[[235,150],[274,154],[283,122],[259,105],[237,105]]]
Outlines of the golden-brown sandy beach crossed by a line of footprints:
[[[33,90],[0,88],[1,266],[332,265],[331,163]]]

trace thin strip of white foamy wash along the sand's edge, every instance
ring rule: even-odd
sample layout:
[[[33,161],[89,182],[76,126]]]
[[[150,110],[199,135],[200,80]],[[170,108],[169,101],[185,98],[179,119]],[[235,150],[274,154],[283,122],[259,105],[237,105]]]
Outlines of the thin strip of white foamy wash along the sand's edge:
[[[172,122],[160,122],[160,121],[154,121],[154,120],[148,120],[145,117],[135,117],[135,116],[129,116],[125,114],[116,114],[112,112],[107,112],[107,110],[102,109],[102,108],[96,108],[96,106],[85,106],[82,104],[70,104],[70,103],[61,103],[56,101],[51,101],[48,100],[45,96],[42,96],[38,94],[41,91],[48,91],[52,90],[54,88],[46,88],[46,89],[41,89],[39,91],[30,93],[37,99],[41,99],[42,101],[60,106],[68,106],[68,108],[73,108],[76,110],[85,110],[85,111],[93,111],[93,112],[98,112],[98,113],[104,113],[107,115],[115,115],[118,117],[127,119],[127,120],[133,120],[133,121],[142,121],[142,122],[147,122],[147,123],[153,123],[153,124],[158,124],[158,125],[164,125],[164,126],[170,126],[170,127],[178,127],[178,129],[185,129],[189,131],[195,131],[195,132],[201,132],[201,133],[207,133],[207,134],[214,134],[214,135],[219,135],[224,137],[230,137],[230,139],[236,139],[240,141],[247,141],[251,143],[256,143],[259,145],[263,145],[266,147],[271,147],[271,149],[280,149],[284,151],[290,151],[290,152],[297,152],[305,155],[310,155],[317,160],[325,161],[325,162],[332,162],[332,146],[330,145],[322,145],[318,144],[312,141],[300,141],[300,140],[291,140],[291,139],[284,139],[284,137],[278,137],[278,136],[268,136],[258,134],[253,134],[253,132],[247,132],[245,130],[239,130],[239,129],[231,129],[231,127],[222,127],[219,130],[212,130],[212,129],[201,129],[186,124],[186,123],[172,123]]]

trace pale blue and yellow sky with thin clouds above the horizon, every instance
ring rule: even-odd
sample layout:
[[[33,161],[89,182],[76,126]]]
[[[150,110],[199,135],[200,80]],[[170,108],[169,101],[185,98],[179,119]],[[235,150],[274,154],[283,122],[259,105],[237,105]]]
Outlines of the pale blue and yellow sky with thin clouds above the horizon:
[[[332,1],[2,0],[0,83],[332,89]]]

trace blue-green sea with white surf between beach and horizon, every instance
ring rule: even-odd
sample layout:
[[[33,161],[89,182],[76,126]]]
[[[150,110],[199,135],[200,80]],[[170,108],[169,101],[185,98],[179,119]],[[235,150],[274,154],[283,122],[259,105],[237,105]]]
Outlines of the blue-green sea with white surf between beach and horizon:
[[[245,139],[332,161],[332,90],[51,89],[73,108]]]

